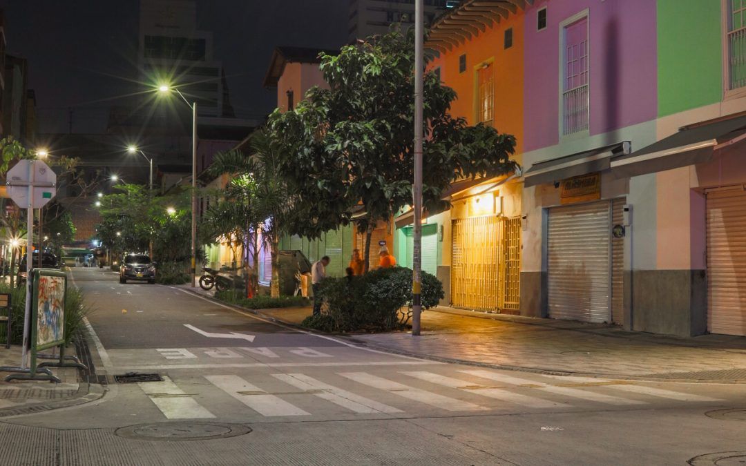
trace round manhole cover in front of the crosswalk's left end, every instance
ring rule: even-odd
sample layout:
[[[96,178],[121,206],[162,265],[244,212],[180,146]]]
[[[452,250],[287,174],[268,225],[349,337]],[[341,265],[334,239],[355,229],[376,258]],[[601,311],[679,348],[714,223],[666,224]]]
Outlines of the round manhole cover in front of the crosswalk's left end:
[[[174,422],[140,424],[116,429],[116,435],[140,440],[189,441],[228,438],[251,432],[251,428],[241,424]]]

